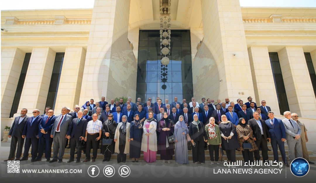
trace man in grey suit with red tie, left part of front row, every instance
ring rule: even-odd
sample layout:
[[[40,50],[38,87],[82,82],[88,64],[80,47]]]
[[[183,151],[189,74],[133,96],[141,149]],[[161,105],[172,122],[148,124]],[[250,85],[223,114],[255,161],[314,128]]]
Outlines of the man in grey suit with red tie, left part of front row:
[[[50,163],[57,161],[63,162],[65,152],[66,138],[69,125],[72,121],[72,116],[67,114],[67,107],[61,109],[61,115],[57,116],[51,132],[53,138],[53,159]]]

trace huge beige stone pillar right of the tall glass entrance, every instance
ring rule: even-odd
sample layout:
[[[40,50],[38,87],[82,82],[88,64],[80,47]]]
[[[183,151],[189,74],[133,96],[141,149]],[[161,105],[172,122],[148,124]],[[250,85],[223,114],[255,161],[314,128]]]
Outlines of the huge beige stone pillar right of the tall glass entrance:
[[[239,1],[201,0],[201,7],[204,40],[192,62],[194,96],[254,96]]]

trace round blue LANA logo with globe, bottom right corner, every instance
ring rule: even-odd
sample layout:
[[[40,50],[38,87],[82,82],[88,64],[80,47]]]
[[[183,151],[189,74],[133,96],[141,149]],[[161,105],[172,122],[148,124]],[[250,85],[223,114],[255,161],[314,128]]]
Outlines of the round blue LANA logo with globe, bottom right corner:
[[[290,169],[296,177],[303,177],[309,171],[309,163],[304,158],[295,158],[291,162]]]

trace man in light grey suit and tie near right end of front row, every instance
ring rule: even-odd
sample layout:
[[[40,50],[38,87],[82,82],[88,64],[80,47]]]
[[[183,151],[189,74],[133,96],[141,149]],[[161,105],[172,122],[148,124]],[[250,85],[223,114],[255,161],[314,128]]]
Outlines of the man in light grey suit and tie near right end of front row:
[[[290,111],[285,111],[283,113],[285,119],[282,120],[285,132],[286,132],[286,142],[289,146],[289,161],[295,159],[295,154],[297,158],[303,157],[302,145],[301,145],[301,127],[291,119],[292,115]]]

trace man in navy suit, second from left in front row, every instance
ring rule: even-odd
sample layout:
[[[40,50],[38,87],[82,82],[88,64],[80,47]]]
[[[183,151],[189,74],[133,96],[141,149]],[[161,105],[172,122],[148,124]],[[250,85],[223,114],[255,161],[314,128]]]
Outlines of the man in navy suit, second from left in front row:
[[[28,151],[32,145],[31,155],[32,159],[31,162],[34,162],[39,148],[39,123],[43,117],[40,116],[40,110],[34,109],[33,110],[33,117],[29,117],[27,122],[24,126],[22,138],[25,138],[25,145],[24,145],[24,153],[23,157],[20,161],[28,160]]]

